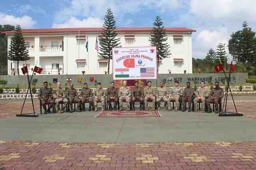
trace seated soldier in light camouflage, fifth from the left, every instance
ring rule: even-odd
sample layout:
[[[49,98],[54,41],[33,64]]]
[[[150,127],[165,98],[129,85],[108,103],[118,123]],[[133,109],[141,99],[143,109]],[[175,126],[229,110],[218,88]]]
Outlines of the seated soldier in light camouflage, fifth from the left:
[[[97,86],[98,87],[96,88],[96,90],[93,93],[93,96],[94,96],[94,107],[95,107],[94,111],[98,111],[98,109],[97,109],[97,101],[101,102],[101,106],[102,106],[102,110],[101,111],[104,111],[105,110],[105,90],[101,87],[101,83],[100,82],[97,83]]]

